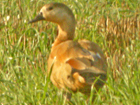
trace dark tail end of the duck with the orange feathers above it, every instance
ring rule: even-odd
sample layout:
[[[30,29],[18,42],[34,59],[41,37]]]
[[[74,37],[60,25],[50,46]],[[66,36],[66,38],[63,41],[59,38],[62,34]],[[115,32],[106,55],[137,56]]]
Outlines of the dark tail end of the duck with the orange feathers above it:
[[[67,60],[72,67],[72,77],[77,84],[95,85],[101,87],[106,81],[106,72],[92,65],[92,60],[87,58],[74,58]]]

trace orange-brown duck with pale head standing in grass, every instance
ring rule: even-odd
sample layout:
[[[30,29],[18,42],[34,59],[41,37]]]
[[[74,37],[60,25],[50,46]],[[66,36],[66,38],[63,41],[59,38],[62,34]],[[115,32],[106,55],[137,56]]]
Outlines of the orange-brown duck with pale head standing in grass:
[[[91,94],[92,86],[98,91],[107,80],[107,62],[103,51],[86,39],[74,41],[76,20],[72,10],[63,3],[48,3],[29,23],[48,21],[57,24],[58,35],[48,58],[47,74],[51,82],[64,90]]]

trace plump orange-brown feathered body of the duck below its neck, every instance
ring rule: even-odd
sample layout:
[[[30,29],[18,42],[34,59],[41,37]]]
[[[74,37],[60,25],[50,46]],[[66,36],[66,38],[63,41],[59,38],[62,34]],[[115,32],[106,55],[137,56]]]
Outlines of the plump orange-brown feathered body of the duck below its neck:
[[[50,72],[51,81],[58,88],[86,94],[93,83],[96,88],[103,86],[106,62],[101,49],[93,42],[66,41],[52,48],[48,59]]]

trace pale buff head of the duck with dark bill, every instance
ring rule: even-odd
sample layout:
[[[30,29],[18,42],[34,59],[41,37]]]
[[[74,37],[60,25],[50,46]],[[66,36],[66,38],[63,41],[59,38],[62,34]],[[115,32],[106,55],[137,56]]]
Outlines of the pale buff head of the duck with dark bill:
[[[50,3],[44,5],[39,14],[33,20],[29,21],[29,23],[46,20],[60,24],[69,19],[74,20],[74,15],[66,5],[62,3]]]

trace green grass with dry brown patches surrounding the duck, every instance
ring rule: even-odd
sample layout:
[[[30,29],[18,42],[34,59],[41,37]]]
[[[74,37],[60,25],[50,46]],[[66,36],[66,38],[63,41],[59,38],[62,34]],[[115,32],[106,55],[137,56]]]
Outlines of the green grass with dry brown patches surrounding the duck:
[[[140,1],[55,0],[74,12],[76,37],[96,42],[108,62],[108,80],[95,105],[140,104]],[[45,76],[56,34],[52,23],[27,24],[51,0],[0,1],[0,105],[65,105]],[[74,105],[86,96],[73,94]]]

